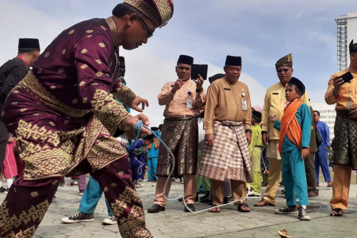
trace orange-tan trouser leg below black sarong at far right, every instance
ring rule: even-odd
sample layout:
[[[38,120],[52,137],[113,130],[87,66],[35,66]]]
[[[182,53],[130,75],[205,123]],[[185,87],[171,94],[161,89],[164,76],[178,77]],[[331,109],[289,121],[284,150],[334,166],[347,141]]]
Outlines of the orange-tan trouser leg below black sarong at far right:
[[[335,164],[333,167],[333,187],[330,206],[332,210],[341,208],[345,211],[348,205],[352,167],[345,164]]]

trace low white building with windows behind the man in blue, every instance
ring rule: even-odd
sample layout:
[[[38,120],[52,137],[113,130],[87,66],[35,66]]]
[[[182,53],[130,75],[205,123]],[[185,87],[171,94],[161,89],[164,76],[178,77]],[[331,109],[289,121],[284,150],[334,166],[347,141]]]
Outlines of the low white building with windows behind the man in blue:
[[[320,112],[320,121],[325,122],[330,129],[330,142],[335,137],[333,128],[335,127],[336,111],[334,105],[327,105],[326,103],[310,103],[314,111]]]

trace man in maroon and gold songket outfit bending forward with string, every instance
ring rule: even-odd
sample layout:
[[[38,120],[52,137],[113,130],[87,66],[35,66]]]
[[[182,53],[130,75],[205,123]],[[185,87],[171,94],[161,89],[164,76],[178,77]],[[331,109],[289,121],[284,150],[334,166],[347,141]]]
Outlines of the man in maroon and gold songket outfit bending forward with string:
[[[130,181],[129,158],[114,136],[148,118],[131,116],[115,98],[142,111],[147,103],[119,75],[119,46],[147,43],[170,20],[172,0],[125,0],[107,19],[62,31],[39,56],[2,108],[26,163],[0,207],[0,237],[32,237],[57,189],[59,176],[90,172],[118,218],[122,237],[149,238],[144,209]],[[144,109],[144,108],[143,108]],[[150,133],[142,129],[141,136]]]

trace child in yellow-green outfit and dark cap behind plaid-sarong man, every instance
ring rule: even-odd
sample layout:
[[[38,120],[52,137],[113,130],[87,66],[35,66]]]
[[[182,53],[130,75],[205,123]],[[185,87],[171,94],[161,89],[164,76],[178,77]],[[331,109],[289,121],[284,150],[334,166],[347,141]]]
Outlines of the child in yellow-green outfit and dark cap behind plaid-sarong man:
[[[262,180],[260,176],[260,157],[263,148],[262,129],[260,122],[262,113],[258,111],[252,112],[252,135],[251,142],[248,146],[250,160],[252,162],[253,182],[250,183],[253,194],[248,195],[248,198],[261,198],[262,195]]]

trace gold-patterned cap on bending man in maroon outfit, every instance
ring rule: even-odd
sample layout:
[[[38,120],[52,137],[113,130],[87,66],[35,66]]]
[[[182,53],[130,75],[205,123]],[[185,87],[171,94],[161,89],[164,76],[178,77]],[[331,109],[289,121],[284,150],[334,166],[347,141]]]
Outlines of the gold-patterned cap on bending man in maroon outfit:
[[[165,26],[174,14],[172,0],[125,0],[124,3],[140,11],[159,28]]]

